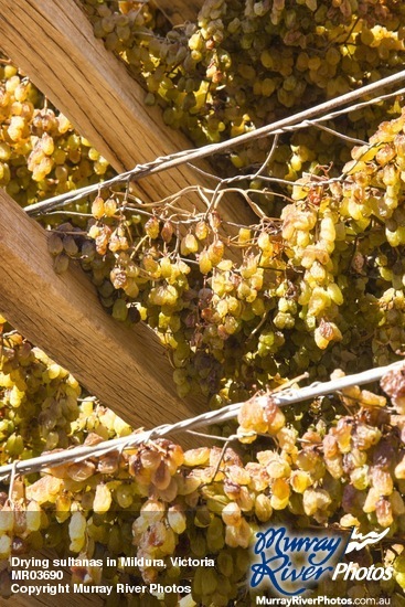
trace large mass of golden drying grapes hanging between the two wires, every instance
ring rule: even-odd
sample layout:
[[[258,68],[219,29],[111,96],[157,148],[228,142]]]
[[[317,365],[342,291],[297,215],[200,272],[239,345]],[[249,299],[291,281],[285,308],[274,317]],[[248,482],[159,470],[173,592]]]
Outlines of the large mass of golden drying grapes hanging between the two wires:
[[[170,201],[102,192],[87,236],[53,232],[55,265],[75,242],[102,303],[152,327],[179,394],[199,390],[213,407],[303,371],[392,362],[405,343],[404,125],[405,113],[382,123],[340,178],[302,177],[280,217],[235,236],[220,196],[186,217]]]

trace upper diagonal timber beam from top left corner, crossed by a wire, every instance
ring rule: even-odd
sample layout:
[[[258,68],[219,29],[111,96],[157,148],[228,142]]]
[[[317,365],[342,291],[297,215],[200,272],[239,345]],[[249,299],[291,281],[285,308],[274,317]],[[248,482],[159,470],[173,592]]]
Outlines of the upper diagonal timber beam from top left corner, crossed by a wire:
[[[191,147],[163,124],[159,108],[145,106],[143,89],[94,38],[74,0],[2,0],[0,47],[117,171]],[[138,188],[159,200],[195,182],[213,185],[184,164]],[[205,210],[196,195],[188,199]],[[237,198],[224,200],[219,211],[226,220],[254,221]]]

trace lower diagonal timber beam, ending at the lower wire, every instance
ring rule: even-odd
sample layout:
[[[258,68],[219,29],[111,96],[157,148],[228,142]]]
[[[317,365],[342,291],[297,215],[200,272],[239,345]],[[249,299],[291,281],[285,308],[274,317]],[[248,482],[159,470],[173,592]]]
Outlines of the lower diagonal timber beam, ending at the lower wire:
[[[114,321],[81,268],[56,275],[46,232],[2,190],[0,207],[0,311],[11,324],[134,427],[202,412],[178,397],[154,333]]]

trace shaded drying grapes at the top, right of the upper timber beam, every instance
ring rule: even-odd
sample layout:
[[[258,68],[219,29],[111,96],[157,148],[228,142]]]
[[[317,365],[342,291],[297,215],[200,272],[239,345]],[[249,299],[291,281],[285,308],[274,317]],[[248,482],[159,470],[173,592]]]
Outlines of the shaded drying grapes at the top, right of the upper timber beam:
[[[207,0],[198,22],[171,29],[136,1],[83,0],[96,38],[116,52],[163,107],[167,125],[196,142],[220,141],[394,73],[404,61],[404,7],[392,1],[242,2]],[[364,139],[393,109],[376,105],[328,123]],[[349,143],[350,145],[350,143]],[[236,169],[257,164],[266,140],[232,152]],[[348,160],[348,142],[310,129],[285,135],[267,173]],[[230,170],[225,162],[224,168]]]

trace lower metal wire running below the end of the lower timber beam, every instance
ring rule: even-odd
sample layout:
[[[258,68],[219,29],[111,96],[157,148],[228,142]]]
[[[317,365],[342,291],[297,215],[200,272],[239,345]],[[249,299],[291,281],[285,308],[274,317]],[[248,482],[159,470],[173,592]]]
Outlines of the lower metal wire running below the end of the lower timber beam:
[[[279,407],[292,405],[303,401],[313,400],[319,396],[333,394],[353,385],[370,384],[381,380],[390,371],[398,371],[401,369],[405,370],[405,363],[403,361],[352,375],[344,375],[328,382],[315,382],[309,386],[300,388],[287,388],[277,393],[262,394],[256,397],[256,402],[263,407],[265,407],[269,401]],[[49,467],[83,461],[94,457],[102,457],[111,451],[122,451],[124,449],[134,448],[137,445],[148,443],[149,440],[156,440],[157,438],[163,438],[179,432],[192,432],[196,428],[220,424],[222,422],[236,418],[243,404],[244,403],[236,403],[223,407],[220,411],[203,413],[196,417],[183,419],[181,422],[177,422],[175,424],[164,424],[150,430],[139,432],[129,436],[115,438],[113,440],[105,440],[95,446],[74,447],[71,449],[49,452],[31,459],[13,461],[12,464],[0,467],[0,480],[12,478],[15,475],[38,472]]]

